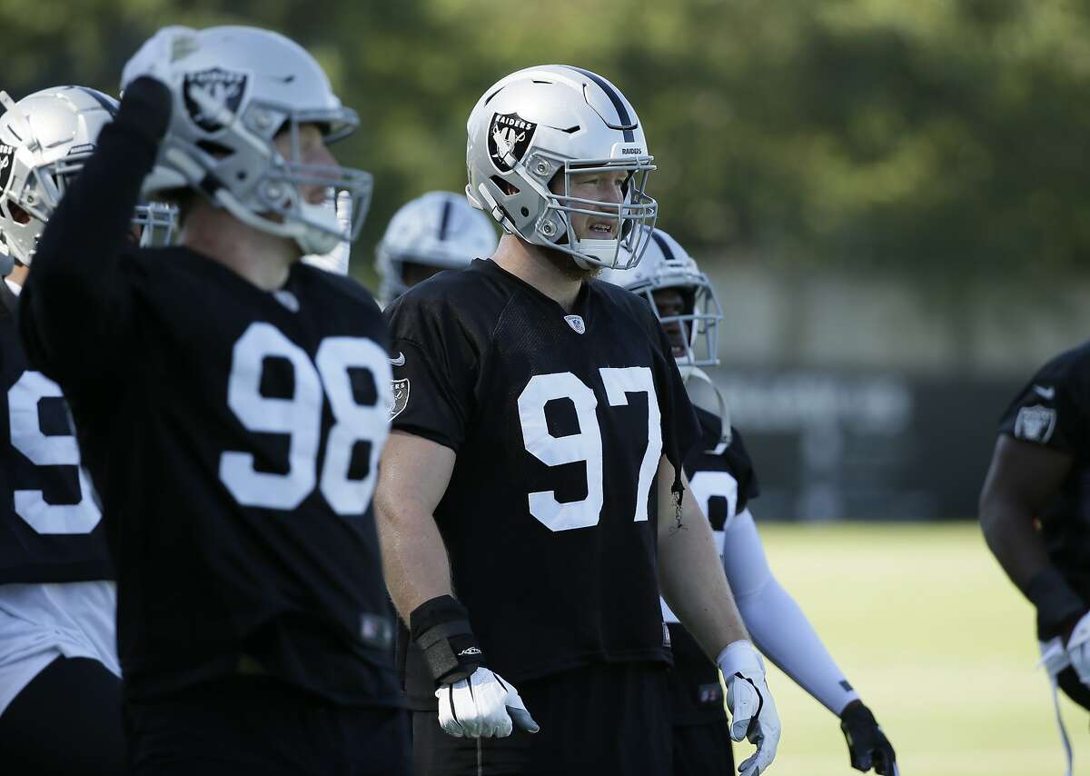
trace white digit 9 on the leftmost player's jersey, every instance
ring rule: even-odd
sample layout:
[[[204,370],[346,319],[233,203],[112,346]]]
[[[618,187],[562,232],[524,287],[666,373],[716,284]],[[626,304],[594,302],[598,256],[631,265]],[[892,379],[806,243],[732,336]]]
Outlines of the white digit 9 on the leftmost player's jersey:
[[[38,404],[63,399],[61,388],[40,372],[24,372],[8,391],[11,444],[38,466],[76,466],[77,504],[49,504],[41,490],[15,490],[15,513],[39,534],[90,533],[102,519],[95,504],[90,477],[80,465],[75,434],[47,435],[41,431]]]

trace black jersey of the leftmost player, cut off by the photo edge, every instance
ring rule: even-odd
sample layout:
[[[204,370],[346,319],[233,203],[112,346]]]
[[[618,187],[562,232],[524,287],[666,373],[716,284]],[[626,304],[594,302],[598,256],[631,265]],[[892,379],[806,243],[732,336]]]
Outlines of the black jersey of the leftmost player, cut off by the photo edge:
[[[113,579],[68,404],[27,366],[16,307],[0,280],[0,583]]]

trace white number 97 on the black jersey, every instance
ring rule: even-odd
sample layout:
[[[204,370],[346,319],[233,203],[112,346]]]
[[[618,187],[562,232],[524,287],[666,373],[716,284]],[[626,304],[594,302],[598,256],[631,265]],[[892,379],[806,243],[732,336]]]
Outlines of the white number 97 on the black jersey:
[[[628,404],[629,393],[647,395],[647,448],[640,463],[633,520],[647,519],[646,494],[658,469],[663,451],[662,420],[651,369],[646,366],[601,368],[606,400],[610,407]],[[545,404],[556,399],[569,399],[576,407],[579,432],[553,436],[545,417]],[[604,501],[602,429],[598,426],[598,400],[586,384],[570,372],[534,375],[519,395],[519,421],[526,450],[542,463],[559,466],[565,463],[586,463],[586,498],[559,501],[554,490],[531,493],[530,513],[549,531],[570,531],[596,525]]]

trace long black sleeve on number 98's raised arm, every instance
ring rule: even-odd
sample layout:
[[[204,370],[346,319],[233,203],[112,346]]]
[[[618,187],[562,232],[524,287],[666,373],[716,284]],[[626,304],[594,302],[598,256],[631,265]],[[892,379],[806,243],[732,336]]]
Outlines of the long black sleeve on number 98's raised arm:
[[[131,330],[120,254],[170,120],[170,92],[138,78],[46,225],[20,299],[29,362],[65,392],[109,368]]]

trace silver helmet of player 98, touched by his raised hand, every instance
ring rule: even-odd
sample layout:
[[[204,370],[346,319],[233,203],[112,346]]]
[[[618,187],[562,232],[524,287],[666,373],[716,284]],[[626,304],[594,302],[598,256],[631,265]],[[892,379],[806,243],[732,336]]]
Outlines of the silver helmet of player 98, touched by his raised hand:
[[[294,240],[304,254],[326,254],[359,234],[371,174],[304,162],[299,133],[316,124],[329,144],[351,134],[359,117],[296,43],[256,27],[165,27],[125,65],[122,88],[142,75],[164,81],[173,94],[145,193],[195,189],[254,229]],[[275,144],[281,131],[290,133],[288,158]],[[325,187],[327,202],[347,194],[348,228],[336,208],[307,202],[300,186]]]

